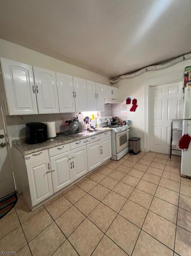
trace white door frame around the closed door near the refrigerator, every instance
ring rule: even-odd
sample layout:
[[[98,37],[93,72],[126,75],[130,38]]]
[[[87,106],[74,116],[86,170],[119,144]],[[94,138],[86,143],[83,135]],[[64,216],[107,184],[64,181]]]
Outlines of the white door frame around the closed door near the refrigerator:
[[[150,88],[183,81],[183,69],[144,79],[144,150],[146,152],[150,151]]]

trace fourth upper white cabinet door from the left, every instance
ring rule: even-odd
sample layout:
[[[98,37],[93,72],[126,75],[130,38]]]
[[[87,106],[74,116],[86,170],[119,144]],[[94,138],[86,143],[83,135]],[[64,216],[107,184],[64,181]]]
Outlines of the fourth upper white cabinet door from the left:
[[[76,112],[87,111],[87,90],[86,80],[78,77],[73,77],[74,92],[75,92],[75,106]]]

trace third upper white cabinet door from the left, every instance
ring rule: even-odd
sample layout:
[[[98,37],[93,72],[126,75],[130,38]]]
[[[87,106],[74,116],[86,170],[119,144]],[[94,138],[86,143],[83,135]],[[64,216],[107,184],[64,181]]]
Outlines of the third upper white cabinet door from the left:
[[[56,72],[60,113],[75,112],[73,77]]]

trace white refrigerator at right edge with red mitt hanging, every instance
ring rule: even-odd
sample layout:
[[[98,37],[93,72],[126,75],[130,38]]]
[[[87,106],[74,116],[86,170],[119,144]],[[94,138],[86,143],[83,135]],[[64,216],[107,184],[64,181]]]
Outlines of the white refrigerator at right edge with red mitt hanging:
[[[187,133],[191,136],[191,87],[184,89],[182,135]],[[191,142],[188,149],[182,150],[181,175],[191,177]]]

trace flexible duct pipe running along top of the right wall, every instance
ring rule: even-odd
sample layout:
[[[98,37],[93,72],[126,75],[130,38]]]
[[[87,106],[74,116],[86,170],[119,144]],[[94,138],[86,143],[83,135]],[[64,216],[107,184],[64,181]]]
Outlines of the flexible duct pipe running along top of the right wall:
[[[170,61],[166,61],[166,62],[161,63],[161,64],[156,64],[156,65],[144,67],[144,68],[142,68],[138,71],[135,71],[133,73],[118,76],[117,78],[110,79],[109,82],[110,82],[110,84],[114,85],[114,84],[118,83],[121,79],[128,79],[128,78],[132,78],[132,77],[135,77],[135,76],[139,76],[142,73],[147,72],[147,71],[160,70],[160,69],[164,69],[164,68],[167,68],[167,67],[171,67],[171,66],[173,66],[173,65],[175,65],[175,64],[177,64],[181,61],[189,60],[189,59],[191,59],[191,52],[187,53],[187,54],[184,54],[184,55],[181,55],[178,58],[172,59]]]

